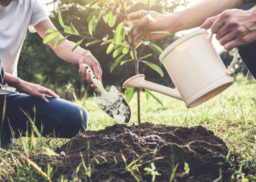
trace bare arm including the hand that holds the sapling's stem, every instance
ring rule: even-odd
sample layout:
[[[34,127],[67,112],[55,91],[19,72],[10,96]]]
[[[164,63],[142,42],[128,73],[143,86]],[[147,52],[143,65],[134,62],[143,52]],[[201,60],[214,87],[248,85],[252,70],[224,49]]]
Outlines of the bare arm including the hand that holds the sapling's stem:
[[[161,15],[156,12],[158,20],[152,22],[146,17],[147,11],[140,10],[127,15],[127,19],[143,19],[144,21],[132,21],[133,28],[132,35],[135,37],[139,34],[136,29],[139,26],[144,26],[148,32],[154,31],[167,31],[169,33],[175,33],[182,30],[188,30],[191,28],[196,28],[200,26],[207,18],[216,16],[223,11],[236,8],[243,3],[243,0],[202,0],[198,4],[186,8],[183,11],[175,12],[170,15]],[[128,23],[129,24],[129,23]],[[159,39],[168,36],[167,34],[147,34],[146,39]],[[144,35],[140,35],[136,41],[135,45],[140,42],[140,39],[145,39]]]

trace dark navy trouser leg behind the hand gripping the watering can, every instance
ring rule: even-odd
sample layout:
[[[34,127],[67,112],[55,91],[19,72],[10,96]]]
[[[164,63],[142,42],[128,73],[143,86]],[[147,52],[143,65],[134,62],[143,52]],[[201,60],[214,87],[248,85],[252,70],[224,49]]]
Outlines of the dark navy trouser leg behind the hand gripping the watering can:
[[[240,10],[250,10],[256,3],[246,3],[238,7]],[[256,78],[256,41],[251,44],[240,46],[239,55],[244,62],[244,65],[250,71],[254,78]]]

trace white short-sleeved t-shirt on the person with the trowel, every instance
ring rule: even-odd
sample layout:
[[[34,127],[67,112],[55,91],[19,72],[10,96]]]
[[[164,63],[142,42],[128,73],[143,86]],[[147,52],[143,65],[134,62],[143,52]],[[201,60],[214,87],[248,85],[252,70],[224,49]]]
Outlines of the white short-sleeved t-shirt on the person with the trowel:
[[[49,17],[37,0],[12,0],[4,7],[0,5],[0,59],[5,72],[17,76],[20,50],[27,30]],[[14,92],[13,87],[3,85],[0,94]]]

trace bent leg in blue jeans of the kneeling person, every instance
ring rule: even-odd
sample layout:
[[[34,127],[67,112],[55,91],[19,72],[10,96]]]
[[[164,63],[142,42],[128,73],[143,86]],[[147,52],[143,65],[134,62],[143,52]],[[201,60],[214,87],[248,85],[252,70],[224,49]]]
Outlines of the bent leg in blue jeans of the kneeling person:
[[[28,130],[30,134],[29,119],[32,121],[35,113],[35,126],[46,136],[53,133],[59,138],[72,138],[79,131],[84,131],[88,126],[88,113],[85,108],[60,98],[46,96],[49,103],[41,98],[27,94],[11,93],[6,94],[6,109],[3,131],[5,138],[11,137],[10,126],[15,131],[15,136],[19,131],[24,136]],[[4,96],[0,95],[0,109],[3,108]],[[25,113],[24,113],[24,112]],[[41,125],[42,128],[41,128]],[[28,126],[28,127],[27,127]],[[18,131],[19,130],[19,131]]]

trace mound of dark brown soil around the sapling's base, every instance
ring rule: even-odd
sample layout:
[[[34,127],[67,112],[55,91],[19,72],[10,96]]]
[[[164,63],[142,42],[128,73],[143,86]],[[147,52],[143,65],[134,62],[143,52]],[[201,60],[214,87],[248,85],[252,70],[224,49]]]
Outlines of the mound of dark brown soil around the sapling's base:
[[[225,163],[229,149],[212,131],[203,126],[152,123],[142,123],[141,127],[141,136],[137,125],[115,124],[86,131],[57,149],[57,155],[39,154],[38,160],[43,168],[52,163],[56,171],[53,178],[63,175],[94,182],[169,182],[175,171],[173,181],[208,182],[220,175],[222,181],[230,181],[229,164]],[[231,153],[230,158],[237,157]]]

